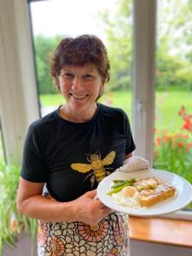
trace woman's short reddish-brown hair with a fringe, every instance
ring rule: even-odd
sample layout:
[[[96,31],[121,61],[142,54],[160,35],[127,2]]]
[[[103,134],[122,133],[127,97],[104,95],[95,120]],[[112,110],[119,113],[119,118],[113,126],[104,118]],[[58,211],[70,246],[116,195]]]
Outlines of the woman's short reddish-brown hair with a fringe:
[[[58,76],[64,66],[84,66],[93,63],[102,76],[102,83],[110,79],[110,63],[108,52],[102,40],[94,35],[82,35],[78,38],[64,38],[55,49],[51,62],[51,74],[55,79],[55,86],[59,89]]]

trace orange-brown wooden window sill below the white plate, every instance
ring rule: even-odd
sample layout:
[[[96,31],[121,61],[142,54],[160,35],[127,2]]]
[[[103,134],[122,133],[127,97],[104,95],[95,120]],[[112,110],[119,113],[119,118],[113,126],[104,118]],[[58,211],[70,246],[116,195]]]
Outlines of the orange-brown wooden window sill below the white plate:
[[[192,222],[174,218],[130,216],[132,240],[149,241],[179,247],[192,247]]]

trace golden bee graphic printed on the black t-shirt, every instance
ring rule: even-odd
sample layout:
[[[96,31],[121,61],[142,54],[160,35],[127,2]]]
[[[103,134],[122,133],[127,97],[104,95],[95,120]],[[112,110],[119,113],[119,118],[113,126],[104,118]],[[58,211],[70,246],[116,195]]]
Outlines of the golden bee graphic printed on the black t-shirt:
[[[108,174],[110,173],[107,170],[111,168],[105,166],[111,165],[113,163],[115,152],[111,151],[106,155],[106,157],[104,157],[103,160],[101,158],[101,154],[98,151],[96,151],[95,154],[88,155],[89,157],[87,157],[87,160],[88,162],[90,162],[90,164],[74,163],[71,165],[71,167],[73,170],[82,173],[90,172],[91,170],[93,170],[93,172],[91,172],[84,178],[86,179],[91,176],[90,183],[92,189],[95,181],[97,181],[97,183],[100,183],[102,179],[108,176]]]

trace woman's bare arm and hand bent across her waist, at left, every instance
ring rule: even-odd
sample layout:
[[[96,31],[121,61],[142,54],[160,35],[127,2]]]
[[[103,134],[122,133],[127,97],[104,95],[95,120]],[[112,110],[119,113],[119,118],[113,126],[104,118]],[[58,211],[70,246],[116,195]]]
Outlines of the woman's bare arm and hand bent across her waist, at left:
[[[112,212],[101,201],[94,200],[96,190],[74,201],[59,202],[42,196],[43,189],[44,183],[32,183],[21,177],[17,193],[18,211],[44,222],[82,221],[90,225],[96,225]]]

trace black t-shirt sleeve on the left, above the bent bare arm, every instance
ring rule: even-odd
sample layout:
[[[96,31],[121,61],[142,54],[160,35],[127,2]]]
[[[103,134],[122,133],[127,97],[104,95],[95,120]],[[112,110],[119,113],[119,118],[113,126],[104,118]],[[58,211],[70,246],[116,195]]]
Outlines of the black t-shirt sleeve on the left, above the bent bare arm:
[[[31,182],[44,183],[47,179],[46,173],[42,143],[31,125],[26,135],[20,176]]]

